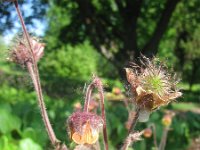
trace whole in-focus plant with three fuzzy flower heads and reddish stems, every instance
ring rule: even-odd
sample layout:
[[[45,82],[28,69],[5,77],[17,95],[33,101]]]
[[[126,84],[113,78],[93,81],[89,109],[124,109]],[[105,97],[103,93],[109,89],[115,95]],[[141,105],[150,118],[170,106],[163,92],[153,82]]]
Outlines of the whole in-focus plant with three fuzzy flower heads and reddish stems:
[[[57,139],[51,126],[40,85],[37,62],[43,56],[45,44],[40,43],[37,38],[28,34],[17,0],[9,2],[14,3],[23,29],[22,37],[18,38],[11,49],[9,60],[27,68],[33,81],[41,117],[51,144],[56,150],[67,150],[68,148],[64,142]],[[129,132],[122,146],[123,150],[128,149],[130,144],[139,140],[141,134],[143,134],[144,131],[134,131],[138,120],[147,121],[151,112],[181,96],[181,92],[176,89],[177,81],[173,80],[164,66],[156,60],[150,60],[142,56],[140,66],[132,63],[130,68],[125,69],[127,81],[130,84],[130,99],[131,103],[134,104],[133,109],[136,113],[131,117]],[[101,103],[101,115],[89,112],[89,105],[94,88],[99,93],[98,99]],[[86,91],[83,110],[74,112],[67,119],[67,132],[72,141],[77,144],[75,149],[100,149],[99,146],[95,147],[94,145],[99,140],[99,132],[101,130],[103,130],[104,149],[109,149],[105,113],[103,84],[100,78],[94,76]]]

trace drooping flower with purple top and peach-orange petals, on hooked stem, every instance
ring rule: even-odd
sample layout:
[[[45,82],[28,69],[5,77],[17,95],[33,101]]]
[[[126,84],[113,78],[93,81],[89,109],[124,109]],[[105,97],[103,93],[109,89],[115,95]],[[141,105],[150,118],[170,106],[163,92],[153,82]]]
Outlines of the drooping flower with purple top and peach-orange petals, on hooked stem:
[[[96,143],[103,127],[103,119],[90,112],[75,112],[67,123],[70,137],[76,144]]]

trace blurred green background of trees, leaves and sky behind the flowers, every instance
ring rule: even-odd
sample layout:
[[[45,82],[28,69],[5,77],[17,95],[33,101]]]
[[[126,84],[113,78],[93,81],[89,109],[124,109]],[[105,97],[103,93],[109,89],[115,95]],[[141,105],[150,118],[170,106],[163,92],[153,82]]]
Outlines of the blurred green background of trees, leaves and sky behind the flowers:
[[[105,91],[125,91],[123,68],[140,53],[157,56],[174,68],[183,96],[154,112],[137,129],[156,125],[160,141],[164,110],[173,110],[166,149],[200,149],[200,1],[199,0],[30,0],[19,1],[28,30],[46,43],[39,62],[48,114],[56,135],[73,147],[66,119],[84,103],[92,74]],[[6,61],[21,27],[12,3],[0,5],[0,149],[49,149],[33,85],[25,68]],[[122,101],[106,100],[110,149],[127,135],[128,112]],[[102,140],[102,139],[101,139]],[[199,141],[198,141],[199,140]],[[153,138],[134,144],[153,149]]]

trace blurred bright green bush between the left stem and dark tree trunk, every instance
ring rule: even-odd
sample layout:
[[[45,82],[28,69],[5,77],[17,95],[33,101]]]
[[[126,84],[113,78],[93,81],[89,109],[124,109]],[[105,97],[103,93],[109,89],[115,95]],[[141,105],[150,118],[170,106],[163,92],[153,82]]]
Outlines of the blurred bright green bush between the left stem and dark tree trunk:
[[[110,77],[117,74],[114,67],[95,52],[87,41],[47,51],[41,62],[41,77],[45,81],[45,90],[54,95],[76,95],[74,91],[88,82],[93,74]]]

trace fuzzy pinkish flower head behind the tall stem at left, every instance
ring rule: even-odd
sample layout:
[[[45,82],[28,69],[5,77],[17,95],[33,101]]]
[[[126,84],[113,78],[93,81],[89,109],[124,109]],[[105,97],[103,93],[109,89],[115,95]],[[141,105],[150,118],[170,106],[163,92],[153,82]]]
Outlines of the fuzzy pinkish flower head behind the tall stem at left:
[[[25,66],[27,62],[33,62],[35,59],[36,62],[43,56],[44,53],[44,43],[39,43],[39,40],[30,37],[31,46],[33,50],[33,56],[31,50],[28,46],[27,40],[24,36],[17,40],[15,46],[11,49],[9,60]]]

